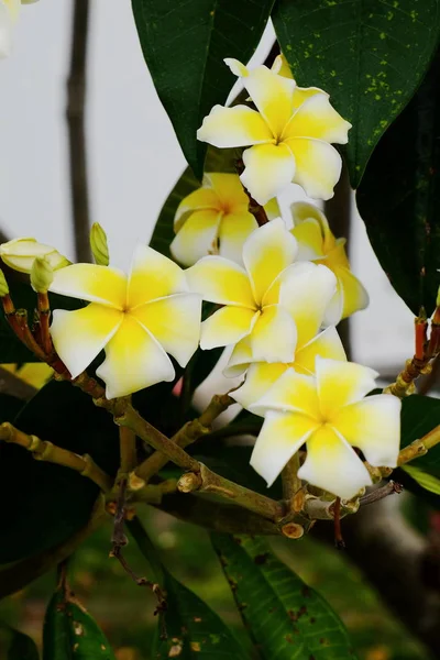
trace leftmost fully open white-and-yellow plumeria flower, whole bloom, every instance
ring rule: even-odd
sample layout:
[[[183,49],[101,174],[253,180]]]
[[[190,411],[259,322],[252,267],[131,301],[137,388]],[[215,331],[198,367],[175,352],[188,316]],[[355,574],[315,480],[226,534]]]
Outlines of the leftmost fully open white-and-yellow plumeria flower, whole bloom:
[[[186,366],[198,346],[201,299],[188,293],[182,268],[152,248],[136,248],[129,276],[110,266],[74,264],[55,272],[50,290],[90,302],[77,311],[55,310],[51,333],[73,377],[106,350],[97,375],[108,398],[173,381],[167,353]]]

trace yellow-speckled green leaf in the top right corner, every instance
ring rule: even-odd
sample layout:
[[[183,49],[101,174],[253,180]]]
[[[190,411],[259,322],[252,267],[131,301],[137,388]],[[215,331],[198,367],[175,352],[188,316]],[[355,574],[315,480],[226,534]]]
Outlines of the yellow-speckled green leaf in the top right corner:
[[[272,18],[298,85],[328,91],[353,124],[345,155],[356,188],[381,135],[416,91],[435,53],[439,2],[278,0]],[[404,144],[408,150],[407,138]]]

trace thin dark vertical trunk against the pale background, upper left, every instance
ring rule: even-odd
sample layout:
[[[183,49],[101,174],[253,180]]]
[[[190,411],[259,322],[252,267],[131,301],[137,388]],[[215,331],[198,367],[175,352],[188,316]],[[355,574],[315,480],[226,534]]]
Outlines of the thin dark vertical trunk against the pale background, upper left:
[[[86,158],[86,63],[89,0],[73,0],[70,70],[67,79],[67,127],[69,139],[70,196],[78,261],[91,260],[89,245],[89,196]]]

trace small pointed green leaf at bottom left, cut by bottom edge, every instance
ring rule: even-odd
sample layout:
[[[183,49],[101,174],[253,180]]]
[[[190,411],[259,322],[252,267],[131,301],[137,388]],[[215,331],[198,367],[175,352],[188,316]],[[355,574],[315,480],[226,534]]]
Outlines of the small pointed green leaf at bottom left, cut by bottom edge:
[[[53,595],[44,618],[43,660],[116,660],[98,624],[63,588]]]

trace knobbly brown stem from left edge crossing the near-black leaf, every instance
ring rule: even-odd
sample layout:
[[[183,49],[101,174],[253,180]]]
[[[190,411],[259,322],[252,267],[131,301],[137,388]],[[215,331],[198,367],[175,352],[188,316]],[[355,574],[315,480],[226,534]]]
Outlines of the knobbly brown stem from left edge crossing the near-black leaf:
[[[20,431],[8,421],[0,425],[0,440],[12,442],[31,451],[36,461],[56,463],[57,465],[70,468],[70,470],[79,472],[82,476],[87,476],[95,482],[105,493],[109,492],[112,487],[113,482],[110,476],[88,454],[80,457],[67,449],[53,444],[48,440],[40,440],[36,436],[28,436],[28,433],[23,433],[23,431]]]

